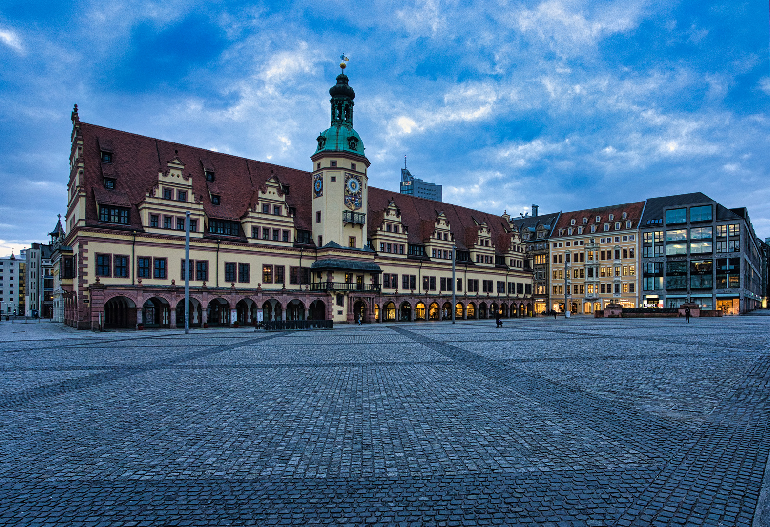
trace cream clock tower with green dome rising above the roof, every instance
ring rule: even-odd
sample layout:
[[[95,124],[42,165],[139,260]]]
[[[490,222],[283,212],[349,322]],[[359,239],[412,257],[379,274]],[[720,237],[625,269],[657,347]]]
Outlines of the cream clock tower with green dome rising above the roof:
[[[331,125],[321,132],[313,160],[313,242],[363,248],[367,243],[367,169],[363,142],[353,130],[356,92],[343,72],[331,95]]]

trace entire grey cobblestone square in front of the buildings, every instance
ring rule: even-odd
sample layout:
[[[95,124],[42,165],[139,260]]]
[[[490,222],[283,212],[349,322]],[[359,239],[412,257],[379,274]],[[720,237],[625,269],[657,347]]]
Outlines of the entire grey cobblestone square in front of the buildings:
[[[0,325],[0,524],[748,527],[764,321]]]

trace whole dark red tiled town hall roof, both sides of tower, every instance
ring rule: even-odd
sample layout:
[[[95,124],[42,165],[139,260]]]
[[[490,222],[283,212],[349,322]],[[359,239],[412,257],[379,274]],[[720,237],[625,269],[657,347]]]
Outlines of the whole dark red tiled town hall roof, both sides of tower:
[[[145,193],[157,185],[158,172],[166,172],[168,163],[174,158],[179,158],[179,161],[184,164],[183,172],[186,175],[193,176],[192,191],[196,199],[203,203],[203,209],[209,218],[242,218],[246,215],[249,205],[256,202],[257,192],[265,188],[266,180],[275,176],[282,185],[289,187],[290,192],[286,195],[286,203],[296,208],[296,228],[303,230],[311,228],[313,206],[310,198],[312,192],[310,172],[121,132],[99,125],[84,122],[79,122],[79,125],[83,142],[85,185],[102,200],[108,199],[107,194],[114,193],[120,196],[119,198],[115,196],[110,202],[114,204],[130,202],[135,208],[131,215],[131,228],[137,230],[142,228],[136,206],[145,198]],[[112,163],[102,163],[101,148],[109,148],[112,152]],[[216,182],[206,182],[206,170],[215,172]],[[104,175],[116,179],[115,191],[103,188]],[[221,205],[211,203],[209,189],[210,192],[221,195]],[[476,238],[477,225],[487,222],[493,242],[502,245],[500,252],[507,251],[510,234],[508,234],[507,222],[501,216],[375,187],[369,187],[370,233],[377,231],[377,227],[382,222],[383,210],[387,208],[391,199],[400,208],[403,224],[408,226],[410,243],[422,244],[427,234],[433,232],[437,215],[443,211],[460,250],[467,250]],[[86,206],[86,224],[103,226],[98,222],[94,199],[89,199]]]

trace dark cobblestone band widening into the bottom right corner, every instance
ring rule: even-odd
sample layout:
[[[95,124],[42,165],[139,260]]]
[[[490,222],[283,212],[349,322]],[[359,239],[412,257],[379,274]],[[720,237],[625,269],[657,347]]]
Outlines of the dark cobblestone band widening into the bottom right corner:
[[[614,525],[752,525],[770,454],[770,353]]]

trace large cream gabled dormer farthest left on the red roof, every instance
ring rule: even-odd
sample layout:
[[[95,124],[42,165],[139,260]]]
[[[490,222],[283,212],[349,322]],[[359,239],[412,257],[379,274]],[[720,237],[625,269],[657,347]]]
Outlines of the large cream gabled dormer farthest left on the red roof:
[[[185,164],[178,155],[158,169],[156,185],[139,203],[139,216],[147,232],[184,235],[185,213],[189,211],[191,235],[203,235],[203,203],[192,191],[192,177],[185,174]]]

